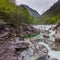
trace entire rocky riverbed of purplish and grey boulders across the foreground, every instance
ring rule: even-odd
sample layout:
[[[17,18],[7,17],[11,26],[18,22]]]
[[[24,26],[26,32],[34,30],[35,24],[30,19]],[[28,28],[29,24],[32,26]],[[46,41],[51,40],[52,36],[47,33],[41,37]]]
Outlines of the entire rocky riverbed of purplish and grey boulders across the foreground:
[[[57,31],[42,31],[31,25],[23,25],[19,29],[10,27],[0,30],[0,60],[58,60],[49,55],[49,49],[60,51]],[[37,33],[40,34],[36,35]],[[29,37],[32,34],[36,36]]]

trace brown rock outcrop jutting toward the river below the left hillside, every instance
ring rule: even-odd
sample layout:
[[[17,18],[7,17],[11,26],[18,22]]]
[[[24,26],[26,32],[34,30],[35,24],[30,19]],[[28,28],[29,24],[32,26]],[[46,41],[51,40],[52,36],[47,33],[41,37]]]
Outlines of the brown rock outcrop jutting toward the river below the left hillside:
[[[35,29],[32,25],[27,25],[27,24],[20,26],[20,28],[18,29],[18,35],[20,37],[25,37],[30,34],[36,34],[38,32],[39,31]]]

